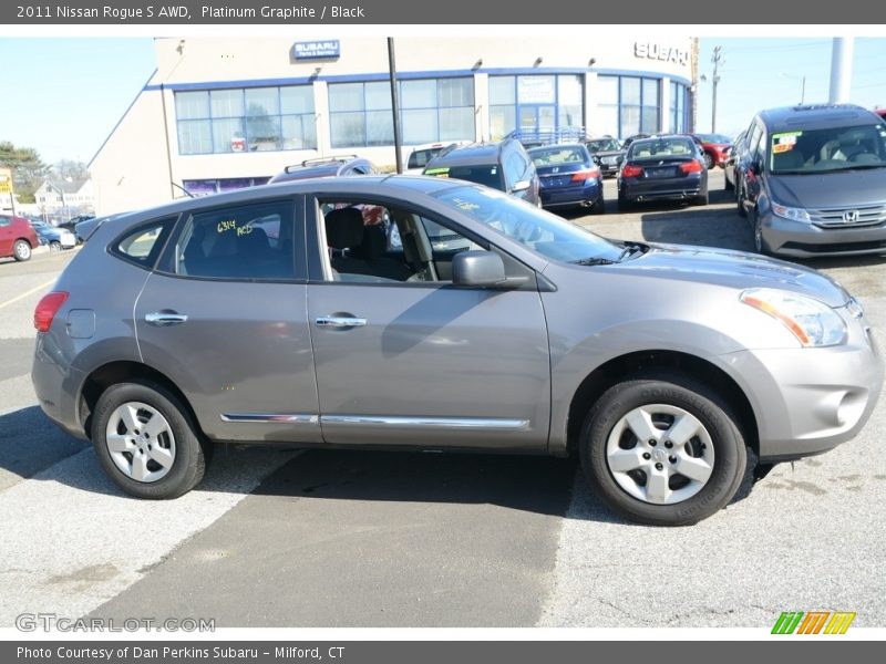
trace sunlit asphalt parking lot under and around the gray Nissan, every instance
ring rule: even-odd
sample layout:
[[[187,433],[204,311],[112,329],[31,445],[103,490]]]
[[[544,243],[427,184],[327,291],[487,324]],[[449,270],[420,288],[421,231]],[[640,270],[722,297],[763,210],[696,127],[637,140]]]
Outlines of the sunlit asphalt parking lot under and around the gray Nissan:
[[[708,207],[575,221],[608,237],[751,249]],[[886,406],[837,449],[750,477],[690,528],[627,523],[571,460],[361,452],[216,453],[168,502],[124,497],[30,384],[31,314],[71,252],[0,261],[0,627],[21,613],[213,618],[217,626],[760,627],[782,611],[886,626]],[[886,330],[886,258],[818,259]],[[864,463],[862,463],[864,460]],[[765,632],[764,632],[764,631]]]

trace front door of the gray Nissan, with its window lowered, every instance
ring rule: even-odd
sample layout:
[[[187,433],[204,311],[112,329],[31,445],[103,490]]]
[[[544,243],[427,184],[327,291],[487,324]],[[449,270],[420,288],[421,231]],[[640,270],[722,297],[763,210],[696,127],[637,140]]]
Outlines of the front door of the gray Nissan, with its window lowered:
[[[323,219],[320,205],[324,210],[338,208],[337,214]],[[549,352],[532,270],[505,257],[508,274],[525,278],[523,287],[513,290],[460,288],[439,278],[394,281],[373,277],[371,270],[350,274],[353,259],[333,261],[333,272],[327,239],[340,250],[341,238],[351,235],[357,242],[361,234],[327,227],[340,216],[338,201],[307,207],[309,217],[315,215],[313,224],[308,222],[308,246],[315,256],[308,318],[323,439],[432,449],[544,449]],[[400,228],[405,253],[414,253],[413,264],[436,274],[421,219],[431,218],[451,236],[459,229],[405,206],[387,212],[400,224],[414,220],[413,227]],[[472,240],[460,236],[457,241]]]

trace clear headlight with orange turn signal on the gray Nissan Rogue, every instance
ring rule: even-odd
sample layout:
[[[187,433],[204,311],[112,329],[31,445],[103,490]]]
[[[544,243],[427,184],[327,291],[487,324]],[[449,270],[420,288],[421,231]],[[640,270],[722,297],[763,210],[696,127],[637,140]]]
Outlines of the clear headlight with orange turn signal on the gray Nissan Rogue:
[[[748,289],[740,299],[777,320],[804,346],[837,345],[846,341],[843,319],[818,300],[769,288]]]

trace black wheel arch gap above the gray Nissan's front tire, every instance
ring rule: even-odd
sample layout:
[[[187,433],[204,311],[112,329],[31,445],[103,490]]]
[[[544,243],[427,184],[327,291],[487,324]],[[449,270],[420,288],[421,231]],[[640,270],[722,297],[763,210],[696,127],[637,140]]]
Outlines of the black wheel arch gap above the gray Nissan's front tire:
[[[745,444],[760,453],[759,427],[751,402],[739,384],[711,362],[679,351],[638,351],[614,357],[590,372],[579,384],[569,404],[566,422],[566,446],[569,454],[578,448],[585,414],[609,387],[627,377],[649,370],[682,373],[719,394],[736,418]]]

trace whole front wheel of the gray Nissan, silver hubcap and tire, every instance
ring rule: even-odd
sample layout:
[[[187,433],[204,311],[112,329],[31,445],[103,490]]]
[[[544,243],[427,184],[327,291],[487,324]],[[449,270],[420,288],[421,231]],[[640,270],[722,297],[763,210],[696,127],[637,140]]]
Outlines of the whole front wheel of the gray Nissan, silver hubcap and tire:
[[[585,421],[581,467],[600,499],[632,521],[689,526],[735,495],[748,463],[728,407],[670,373],[607,390]]]

